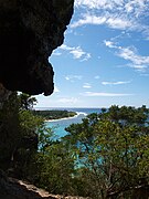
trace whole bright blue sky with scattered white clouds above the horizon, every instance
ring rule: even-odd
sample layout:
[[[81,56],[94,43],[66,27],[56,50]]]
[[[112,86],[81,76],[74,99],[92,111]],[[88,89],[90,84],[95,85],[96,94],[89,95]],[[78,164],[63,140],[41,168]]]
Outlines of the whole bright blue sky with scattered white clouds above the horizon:
[[[38,107],[149,107],[149,0],[75,0]]]

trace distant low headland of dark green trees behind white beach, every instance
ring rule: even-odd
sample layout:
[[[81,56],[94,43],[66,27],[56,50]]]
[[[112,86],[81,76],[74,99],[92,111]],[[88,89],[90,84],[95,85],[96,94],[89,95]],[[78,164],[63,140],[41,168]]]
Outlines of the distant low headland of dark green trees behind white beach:
[[[34,115],[42,116],[45,119],[60,119],[65,117],[74,117],[76,115],[75,112],[61,111],[61,109],[52,109],[52,111],[33,111]]]

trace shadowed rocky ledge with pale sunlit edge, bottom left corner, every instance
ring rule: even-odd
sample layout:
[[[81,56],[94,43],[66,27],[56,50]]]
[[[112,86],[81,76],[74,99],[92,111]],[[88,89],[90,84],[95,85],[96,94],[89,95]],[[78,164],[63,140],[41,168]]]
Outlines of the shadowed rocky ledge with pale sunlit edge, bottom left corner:
[[[0,171],[0,198],[1,199],[89,199],[77,196],[51,195],[44,189],[14,178],[8,178]]]

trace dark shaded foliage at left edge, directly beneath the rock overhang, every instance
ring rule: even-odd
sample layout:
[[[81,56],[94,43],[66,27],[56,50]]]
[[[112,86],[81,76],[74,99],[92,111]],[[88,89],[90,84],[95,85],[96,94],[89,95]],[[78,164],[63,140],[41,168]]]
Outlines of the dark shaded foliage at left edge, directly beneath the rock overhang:
[[[35,102],[30,95],[14,92],[0,109],[0,169],[19,178],[26,177],[38,150],[36,132],[44,124],[30,111]]]

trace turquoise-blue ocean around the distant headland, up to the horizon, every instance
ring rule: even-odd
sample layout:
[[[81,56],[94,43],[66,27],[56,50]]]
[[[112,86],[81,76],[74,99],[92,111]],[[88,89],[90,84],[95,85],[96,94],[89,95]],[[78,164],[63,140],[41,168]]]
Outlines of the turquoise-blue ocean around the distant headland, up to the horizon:
[[[38,109],[66,109],[66,111],[73,111],[77,113],[77,116],[73,118],[65,118],[65,119],[56,119],[52,122],[46,122],[46,126],[53,128],[54,136],[57,138],[61,138],[67,134],[65,130],[66,127],[68,127],[71,124],[82,123],[82,119],[86,117],[88,114],[92,113],[100,113],[100,108],[70,108],[70,107],[56,107],[56,108],[38,108]]]

